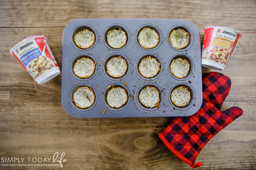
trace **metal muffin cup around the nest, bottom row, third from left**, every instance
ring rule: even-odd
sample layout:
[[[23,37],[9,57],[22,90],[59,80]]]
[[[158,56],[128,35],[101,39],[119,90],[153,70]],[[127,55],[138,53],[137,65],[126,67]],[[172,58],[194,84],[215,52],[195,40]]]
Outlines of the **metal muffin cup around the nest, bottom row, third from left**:
[[[146,107],[146,106],[144,106],[144,105],[140,102],[140,100],[139,100],[139,94],[140,94],[141,90],[142,90],[143,88],[147,87],[147,86],[156,87],[156,88],[157,88],[157,90],[158,90],[158,92],[159,92],[159,99],[160,99],[160,101],[159,101],[159,107],[161,107],[161,105],[163,104],[163,101],[164,101],[164,91],[163,91],[163,89],[161,89],[161,87],[160,87],[159,85],[154,84],[154,83],[145,83],[145,84],[141,85],[141,86],[136,90],[136,93],[135,93],[136,103],[137,103],[137,105],[138,105],[141,109],[143,109],[143,110],[145,110],[145,111],[154,111],[154,110],[158,109],[158,107],[156,107],[156,106],[155,106],[155,107],[152,107],[152,108]]]

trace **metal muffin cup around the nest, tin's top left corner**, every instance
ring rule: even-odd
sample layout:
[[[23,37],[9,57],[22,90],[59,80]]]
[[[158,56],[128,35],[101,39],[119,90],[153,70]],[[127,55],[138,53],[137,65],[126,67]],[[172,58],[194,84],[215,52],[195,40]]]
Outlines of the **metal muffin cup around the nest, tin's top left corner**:
[[[75,34],[78,33],[79,31],[83,30],[83,29],[89,29],[90,31],[92,31],[92,33],[94,33],[94,36],[95,36],[94,44],[92,45],[92,47],[87,48],[87,49],[83,49],[83,48],[77,47],[77,45],[76,45],[76,43],[74,41]],[[87,25],[87,24],[81,24],[79,26],[76,26],[72,30],[71,35],[70,35],[70,42],[71,42],[72,46],[75,49],[79,50],[79,51],[89,51],[89,50],[91,50],[93,47],[96,46],[96,44],[98,42],[98,39],[99,39],[99,36],[98,36],[98,33],[97,33],[96,29],[93,26],[90,26],[90,25]]]

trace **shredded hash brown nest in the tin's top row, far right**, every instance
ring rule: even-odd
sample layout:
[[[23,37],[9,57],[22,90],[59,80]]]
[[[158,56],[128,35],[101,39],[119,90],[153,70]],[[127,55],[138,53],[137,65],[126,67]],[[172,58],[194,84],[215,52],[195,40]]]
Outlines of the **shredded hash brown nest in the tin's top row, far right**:
[[[169,36],[169,41],[174,48],[185,48],[189,42],[189,34],[183,29],[173,30]]]

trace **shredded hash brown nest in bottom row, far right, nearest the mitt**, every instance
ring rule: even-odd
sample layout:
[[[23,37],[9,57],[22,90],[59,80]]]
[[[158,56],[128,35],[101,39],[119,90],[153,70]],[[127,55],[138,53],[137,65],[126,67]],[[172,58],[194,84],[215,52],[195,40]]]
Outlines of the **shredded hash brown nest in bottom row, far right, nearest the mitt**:
[[[188,91],[188,87],[185,85],[177,87],[171,92],[171,101],[175,106],[186,106],[190,99],[190,92]]]

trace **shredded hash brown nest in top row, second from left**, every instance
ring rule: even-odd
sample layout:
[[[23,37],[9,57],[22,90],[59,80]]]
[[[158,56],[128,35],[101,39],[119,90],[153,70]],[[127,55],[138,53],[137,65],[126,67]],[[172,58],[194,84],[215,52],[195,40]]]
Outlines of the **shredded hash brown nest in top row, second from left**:
[[[107,41],[108,45],[112,48],[122,48],[126,43],[126,34],[121,28],[119,30],[113,29],[108,31]]]

